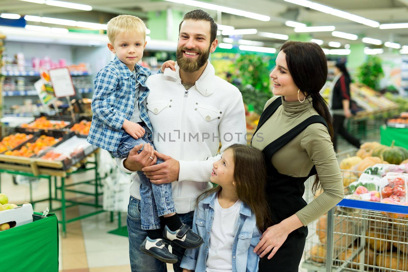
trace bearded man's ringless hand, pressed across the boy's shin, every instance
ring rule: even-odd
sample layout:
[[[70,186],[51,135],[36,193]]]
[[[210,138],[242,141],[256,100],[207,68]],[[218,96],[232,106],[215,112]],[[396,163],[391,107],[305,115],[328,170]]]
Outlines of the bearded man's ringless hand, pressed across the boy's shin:
[[[155,155],[164,162],[142,169],[144,175],[154,184],[170,183],[178,180],[180,164],[170,156],[155,151]]]

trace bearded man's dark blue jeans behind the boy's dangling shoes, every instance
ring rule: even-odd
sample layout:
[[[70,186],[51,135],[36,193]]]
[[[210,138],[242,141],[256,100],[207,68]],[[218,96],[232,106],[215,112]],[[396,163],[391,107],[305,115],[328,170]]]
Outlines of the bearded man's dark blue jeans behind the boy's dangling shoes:
[[[194,212],[188,212],[185,214],[179,214],[182,223],[188,225],[190,228],[193,226]],[[140,201],[130,197],[127,215],[127,227],[129,232],[129,257],[132,272],[166,272],[166,263],[157,260],[147,254],[144,254],[140,250],[140,245],[143,243],[147,236],[146,230],[143,230],[140,224]],[[162,229],[164,226],[162,226]],[[182,272],[180,268],[181,260],[184,256],[184,248],[177,245],[173,246],[173,254],[177,255],[177,263],[173,264],[174,272]]]

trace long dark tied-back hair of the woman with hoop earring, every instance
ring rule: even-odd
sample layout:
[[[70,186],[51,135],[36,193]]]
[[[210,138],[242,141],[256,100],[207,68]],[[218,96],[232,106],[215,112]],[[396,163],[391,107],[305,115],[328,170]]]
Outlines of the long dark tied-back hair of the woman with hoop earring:
[[[312,97],[313,108],[327,123],[330,137],[333,140],[333,119],[326,100],[320,95],[327,80],[327,60],[322,48],[314,42],[288,41],[282,44],[281,51],[286,54],[286,63],[296,86],[308,98]],[[312,186],[313,194],[321,186],[316,175]]]

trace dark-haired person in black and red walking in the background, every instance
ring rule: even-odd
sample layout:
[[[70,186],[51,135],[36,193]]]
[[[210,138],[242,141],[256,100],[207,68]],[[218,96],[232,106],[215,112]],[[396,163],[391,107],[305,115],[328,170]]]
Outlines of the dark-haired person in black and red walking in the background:
[[[333,146],[337,150],[337,134],[343,136],[347,142],[360,148],[360,141],[348,133],[344,128],[344,119],[351,117],[350,111],[350,75],[346,65],[337,62],[334,67],[335,78],[332,84],[331,108],[333,114]]]

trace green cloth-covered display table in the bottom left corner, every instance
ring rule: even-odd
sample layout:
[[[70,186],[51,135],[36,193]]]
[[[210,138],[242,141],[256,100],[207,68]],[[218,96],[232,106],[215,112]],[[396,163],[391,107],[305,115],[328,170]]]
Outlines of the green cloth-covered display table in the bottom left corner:
[[[58,271],[58,219],[42,218],[34,212],[33,222],[0,232],[1,271]]]

